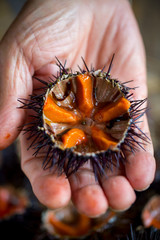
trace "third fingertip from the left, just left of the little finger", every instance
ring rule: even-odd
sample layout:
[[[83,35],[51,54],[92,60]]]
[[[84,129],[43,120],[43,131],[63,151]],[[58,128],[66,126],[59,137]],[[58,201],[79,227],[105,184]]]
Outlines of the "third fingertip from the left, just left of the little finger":
[[[132,186],[124,176],[112,176],[104,179],[102,188],[109,206],[117,211],[128,209],[136,199]]]

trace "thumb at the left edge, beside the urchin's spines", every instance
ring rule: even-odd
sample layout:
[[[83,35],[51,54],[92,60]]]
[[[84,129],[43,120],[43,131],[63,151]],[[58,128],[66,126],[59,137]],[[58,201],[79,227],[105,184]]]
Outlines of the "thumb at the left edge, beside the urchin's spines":
[[[0,43],[0,150],[18,136],[25,111],[18,109],[18,98],[32,92],[32,77],[23,51],[7,35]]]

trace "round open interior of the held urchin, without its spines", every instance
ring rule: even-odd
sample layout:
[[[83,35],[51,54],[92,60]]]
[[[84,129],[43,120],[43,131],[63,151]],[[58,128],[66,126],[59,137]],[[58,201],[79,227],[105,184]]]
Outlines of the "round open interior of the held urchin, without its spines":
[[[123,99],[128,101],[121,85],[107,78],[106,73],[63,75],[45,95],[45,132],[57,147],[66,149],[73,145],[69,148],[82,155],[116,150],[130,124],[129,107],[119,111]],[[73,143],[74,133],[77,141]],[[64,139],[70,139],[72,144],[65,146]]]

